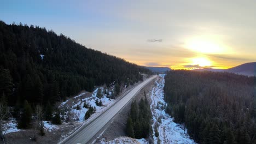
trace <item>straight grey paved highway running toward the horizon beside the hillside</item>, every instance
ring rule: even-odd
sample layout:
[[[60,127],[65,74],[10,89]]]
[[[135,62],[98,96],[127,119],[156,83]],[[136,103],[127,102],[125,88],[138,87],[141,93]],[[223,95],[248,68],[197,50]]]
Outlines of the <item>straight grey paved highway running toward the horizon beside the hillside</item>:
[[[104,111],[100,116],[96,117],[90,123],[79,128],[72,135],[67,137],[61,144],[85,144],[90,143],[94,140],[97,135],[106,128],[107,124],[112,120],[112,118],[117,115],[117,113],[127,104],[129,101],[150,81],[154,80],[157,76],[152,76],[147,80],[144,80],[138,86],[132,88],[129,92],[121,95],[121,98],[117,100],[109,109]]]

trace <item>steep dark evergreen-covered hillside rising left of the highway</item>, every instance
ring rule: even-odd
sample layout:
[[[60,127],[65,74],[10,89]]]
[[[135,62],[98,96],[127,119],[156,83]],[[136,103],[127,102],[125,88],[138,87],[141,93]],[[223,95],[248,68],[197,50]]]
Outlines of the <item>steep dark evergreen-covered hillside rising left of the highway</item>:
[[[0,21],[0,96],[9,105],[54,104],[95,85],[133,84],[139,73],[150,71],[45,28]]]

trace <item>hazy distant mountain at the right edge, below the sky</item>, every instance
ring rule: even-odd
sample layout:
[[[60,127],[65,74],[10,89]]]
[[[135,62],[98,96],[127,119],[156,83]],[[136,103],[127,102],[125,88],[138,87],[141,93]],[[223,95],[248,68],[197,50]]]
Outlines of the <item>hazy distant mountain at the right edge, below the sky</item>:
[[[241,64],[225,71],[240,75],[256,76],[256,62]]]

